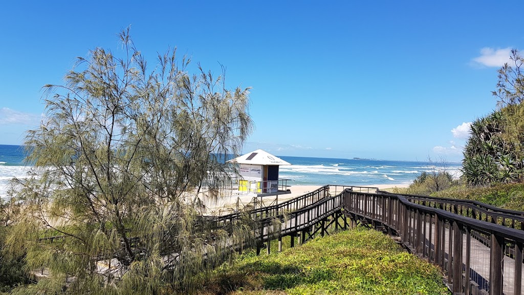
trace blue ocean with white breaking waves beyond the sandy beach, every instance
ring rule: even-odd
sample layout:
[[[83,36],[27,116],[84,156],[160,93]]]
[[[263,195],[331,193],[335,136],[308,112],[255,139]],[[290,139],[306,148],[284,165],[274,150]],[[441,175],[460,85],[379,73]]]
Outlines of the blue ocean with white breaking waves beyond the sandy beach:
[[[279,156],[291,163],[280,166],[280,178],[288,185],[361,185],[410,184],[423,171],[439,168],[439,163],[414,161],[387,161],[365,159],[330,159],[320,157]],[[24,149],[19,145],[0,144],[0,197],[5,197],[9,180],[25,177],[29,166],[24,163]],[[446,163],[445,169],[455,177],[460,176],[460,163]]]

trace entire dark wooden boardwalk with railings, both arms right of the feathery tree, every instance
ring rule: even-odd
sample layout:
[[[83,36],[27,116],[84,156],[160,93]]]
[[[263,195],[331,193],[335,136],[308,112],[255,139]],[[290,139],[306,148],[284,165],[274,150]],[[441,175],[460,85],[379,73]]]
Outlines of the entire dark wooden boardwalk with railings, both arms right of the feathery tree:
[[[330,194],[324,186],[257,209],[252,213],[262,224],[257,252],[263,243],[269,252],[271,240],[280,242],[284,236],[291,236],[293,246],[295,238],[304,243],[326,234],[328,227],[362,224],[384,231],[413,254],[440,266],[453,293],[522,294],[524,213],[474,201],[362,193],[354,188]]]

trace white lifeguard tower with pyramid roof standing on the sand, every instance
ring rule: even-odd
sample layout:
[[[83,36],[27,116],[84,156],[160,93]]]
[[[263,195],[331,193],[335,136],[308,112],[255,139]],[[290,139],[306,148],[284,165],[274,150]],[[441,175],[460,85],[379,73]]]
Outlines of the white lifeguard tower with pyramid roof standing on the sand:
[[[237,163],[240,174],[238,192],[258,197],[290,194],[287,179],[278,177],[280,165],[290,163],[264,150],[256,150],[229,162]]]

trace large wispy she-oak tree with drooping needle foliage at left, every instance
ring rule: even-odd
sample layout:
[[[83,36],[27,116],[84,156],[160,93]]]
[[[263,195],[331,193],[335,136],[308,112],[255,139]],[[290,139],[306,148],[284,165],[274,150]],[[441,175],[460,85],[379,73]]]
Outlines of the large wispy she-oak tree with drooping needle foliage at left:
[[[225,88],[175,50],[154,70],[128,29],[122,58],[95,48],[46,85],[46,120],[28,132],[34,174],[18,181],[25,218],[7,237],[38,283],[13,293],[162,294],[253,241],[249,218],[216,228],[198,193],[231,185],[225,163],[253,122],[249,88]],[[50,238],[55,237],[55,238]]]

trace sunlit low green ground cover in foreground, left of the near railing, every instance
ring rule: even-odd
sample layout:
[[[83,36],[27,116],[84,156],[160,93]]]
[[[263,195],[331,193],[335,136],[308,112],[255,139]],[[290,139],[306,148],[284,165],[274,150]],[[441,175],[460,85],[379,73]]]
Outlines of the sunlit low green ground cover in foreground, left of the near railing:
[[[275,242],[275,244],[277,244]],[[363,228],[281,253],[238,256],[206,277],[198,294],[449,294],[438,268]]]

